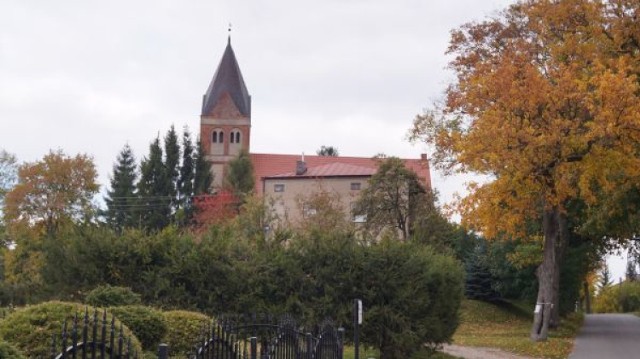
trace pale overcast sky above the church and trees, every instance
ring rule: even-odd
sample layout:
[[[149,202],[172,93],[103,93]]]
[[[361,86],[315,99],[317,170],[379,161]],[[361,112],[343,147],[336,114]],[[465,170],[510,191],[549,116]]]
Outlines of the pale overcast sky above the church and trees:
[[[139,160],[172,124],[197,133],[231,23],[252,152],[419,158],[405,136],[452,79],[450,31],[513,2],[3,0],[0,148],[87,153],[104,190],[126,143]],[[463,190],[432,177],[445,202]]]

